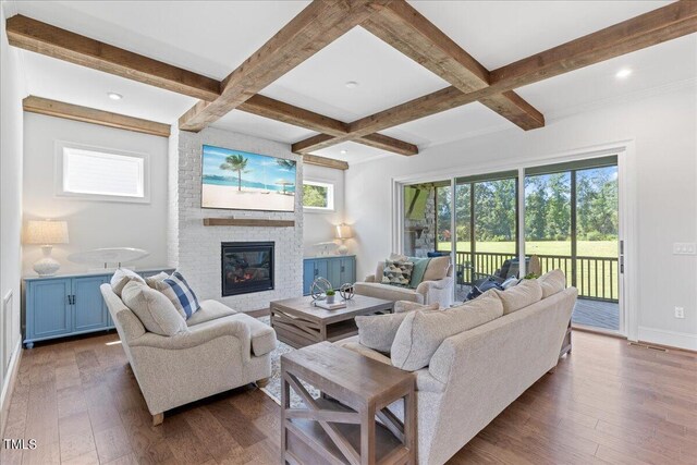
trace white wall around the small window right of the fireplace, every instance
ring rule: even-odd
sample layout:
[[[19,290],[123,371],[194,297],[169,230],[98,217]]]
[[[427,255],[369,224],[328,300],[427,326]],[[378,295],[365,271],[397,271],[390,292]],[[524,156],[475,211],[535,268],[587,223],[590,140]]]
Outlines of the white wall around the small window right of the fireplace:
[[[344,171],[305,164],[303,181],[319,181],[334,185],[334,211],[304,210],[303,243],[305,244],[305,255],[311,256],[319,252],[315,244],[334,241],[333,227],[344,222]],[[340,243],[337,241],[337,244]],[[346,246],[350,249],[352,244],[353,240],[346,241]]]

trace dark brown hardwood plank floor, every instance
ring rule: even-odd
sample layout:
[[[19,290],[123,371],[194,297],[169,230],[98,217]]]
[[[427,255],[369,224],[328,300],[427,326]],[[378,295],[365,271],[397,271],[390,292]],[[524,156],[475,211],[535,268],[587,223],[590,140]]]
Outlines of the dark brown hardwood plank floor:
[[[277,464],[279,406],[253,388],[150,415],[115,334],[25,351],[4,438],[11,464]],[[697,464],[697,355],[574,333],[574,351],[454,464]]]

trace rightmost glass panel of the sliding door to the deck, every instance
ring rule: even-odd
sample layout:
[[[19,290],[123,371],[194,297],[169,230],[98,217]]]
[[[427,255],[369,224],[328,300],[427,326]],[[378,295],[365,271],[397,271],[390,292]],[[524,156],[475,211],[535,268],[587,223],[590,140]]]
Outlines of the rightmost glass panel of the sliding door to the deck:
[[[578,289],[575,325],[620,330],[616,156],[525,170],[525,253]]]

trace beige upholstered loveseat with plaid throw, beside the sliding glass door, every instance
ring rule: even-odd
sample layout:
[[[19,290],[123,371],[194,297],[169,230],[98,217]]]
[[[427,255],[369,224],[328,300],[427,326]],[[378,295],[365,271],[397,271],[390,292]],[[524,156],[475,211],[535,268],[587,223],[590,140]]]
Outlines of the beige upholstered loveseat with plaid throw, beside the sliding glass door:
[[[416,289],[382,284],[380,281],[383,268],[384,261],[378,261],[375,274],[366,277],[365,282],[354,284],[355,293],[386,301],[439,304],[441,308],[448,308],[453,303],[454,278],[450,257],[432,258],[424,273],[424,281]],[[430,279],[431,276],[438,279]]]

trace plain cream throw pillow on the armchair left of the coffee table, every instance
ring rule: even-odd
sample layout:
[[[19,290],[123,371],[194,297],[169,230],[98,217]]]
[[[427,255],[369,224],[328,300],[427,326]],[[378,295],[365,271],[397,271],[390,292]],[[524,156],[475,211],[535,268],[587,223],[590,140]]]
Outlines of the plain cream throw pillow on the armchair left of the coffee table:
[[[186,321],[164,294],[145,283],[130,282],[122,291],[122,301],[143,322],[145,329],[160,335],[188,331]]]

